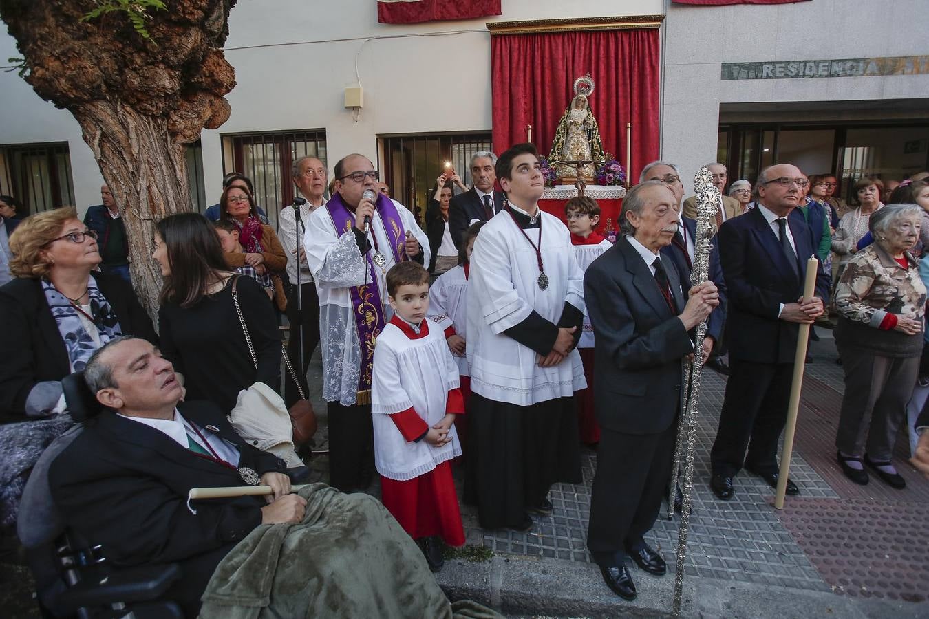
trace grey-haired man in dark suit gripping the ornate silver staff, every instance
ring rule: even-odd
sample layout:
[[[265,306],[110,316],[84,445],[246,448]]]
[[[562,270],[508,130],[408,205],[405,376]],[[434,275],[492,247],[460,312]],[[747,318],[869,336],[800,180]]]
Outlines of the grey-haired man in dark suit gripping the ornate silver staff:
[[[635,599],[627,555],[650,574],[666,572],[644,535],[671,473],[681,362],[694,352],[687,331],[719,304],[713,282],[690,289],[685,303],[677,269],[660,258],[677,230],[675,204],[661,181],[636,186],[622,203],[624,236],[584,276],[601,428],[587,548],[608,587],[625,600]]]

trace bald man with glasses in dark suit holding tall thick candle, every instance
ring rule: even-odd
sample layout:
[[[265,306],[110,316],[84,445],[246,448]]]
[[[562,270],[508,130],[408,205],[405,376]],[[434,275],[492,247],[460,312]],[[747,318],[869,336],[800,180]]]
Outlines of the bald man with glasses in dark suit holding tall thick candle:
[[[829,278],[820,268],[816,296],[802,298],[806,260],[817,251],[809,226],[791,216],[805,183],[796,166],[765,168],[756,186],[758,206],[728,220],[717,236],[731,374],[710,456],[710,486],[723,500],[732,497],[732,478],[743,466],[777,487],[778,437],[787,419],[797,331],[822,315],[829,294]],[[787,494],[799,492],[788,480]]]

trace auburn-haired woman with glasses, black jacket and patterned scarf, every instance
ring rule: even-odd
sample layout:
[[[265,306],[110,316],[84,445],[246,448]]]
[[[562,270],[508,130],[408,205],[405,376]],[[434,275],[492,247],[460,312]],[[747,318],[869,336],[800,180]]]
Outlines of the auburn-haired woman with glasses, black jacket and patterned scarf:
[[[98,273],[97,235],[72,207],[36,213],[9,238],[13,277],[0,287],[0,525],[15,522],[25,479],[72,425],[61,379],[111,339],[156,342],[128,283]]]

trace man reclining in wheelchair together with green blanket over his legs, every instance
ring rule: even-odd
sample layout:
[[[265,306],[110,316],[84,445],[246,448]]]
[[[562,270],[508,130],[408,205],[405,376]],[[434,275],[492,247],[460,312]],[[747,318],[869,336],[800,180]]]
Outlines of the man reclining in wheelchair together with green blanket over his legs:
[[[112,566],[179,565],[179,578],[155,601],[204,619],[259,609],[287,617],[500,616],[466,600],[450,604],[415,542],[373,496],[325,484],[289,494],[281,459],[243,441],[215,405],[182,402],[174,369],[149,342],[107,343],[84,378],[96,394],[91,405],[102,410],[83,416],[83,430],[58,456],[55,444],[46,451],[50,494],[63,525],[100,545]],[[188,498],[194,487],[259,479],[273,496]]]

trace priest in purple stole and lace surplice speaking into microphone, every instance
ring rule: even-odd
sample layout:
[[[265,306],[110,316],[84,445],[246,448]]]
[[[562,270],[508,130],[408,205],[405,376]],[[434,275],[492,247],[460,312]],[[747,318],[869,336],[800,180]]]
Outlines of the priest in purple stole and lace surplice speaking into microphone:
[[[304,249],[320,296],[329,483],[350,492],[367,488],[374,471],[374,343],[392,316],[386,273],[404,260],[429,264],[429,241],[406,207],[377,190],[367,157],[348,155],[334,176],[332,199],[309,216]]]

